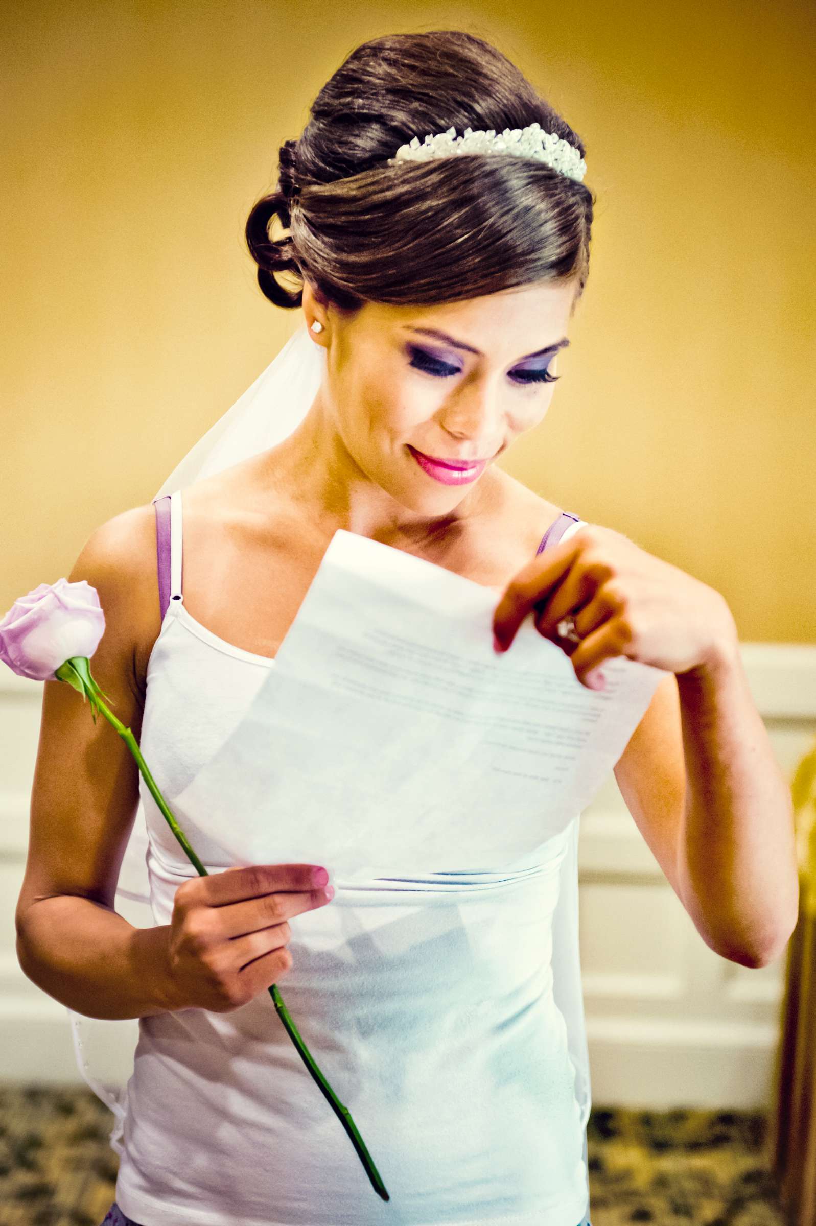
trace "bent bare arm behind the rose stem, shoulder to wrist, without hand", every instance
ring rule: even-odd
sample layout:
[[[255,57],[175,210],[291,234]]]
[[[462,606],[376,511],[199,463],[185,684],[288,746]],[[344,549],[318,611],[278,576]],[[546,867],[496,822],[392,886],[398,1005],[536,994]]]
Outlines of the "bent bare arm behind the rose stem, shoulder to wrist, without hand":
[[[103,524],[70,582],[96,587],[106,629],[93,676],[136,739],[144,639],[160,629],[152,504]],[[28,858],[17,900],[17,958],[43,992],[91,1018],[172,1005],[169,926],[134,928],[113,910],[139,803],[139,769],[121,737],[65,682],[43,682]]]

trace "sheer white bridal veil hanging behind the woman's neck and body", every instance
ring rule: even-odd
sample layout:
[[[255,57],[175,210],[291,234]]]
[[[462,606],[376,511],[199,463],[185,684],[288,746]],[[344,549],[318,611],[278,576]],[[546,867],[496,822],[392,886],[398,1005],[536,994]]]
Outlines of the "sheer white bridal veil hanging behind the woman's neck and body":
[[[155,497],[172,493],[228,468],[287,438],[307,416],[320,386],[326,353],[302,325],[232,408],[212,425],[173,468]],[[148,764],[150,765],[150,764]],[[575,1068],[575,1097],[585,1127],[590,1111],[587,1048],[578,946],[578,820],[561,867],[561,889],[552,921],[553,996],[563,1014],[569,1054]],[[115,910],[137,928],[156,923],[150,904],[147,829],[139,803],[115,894]],[[121,1154],[128,1080],[139,1040],[139,1019],[86,1018],[67,1010],[80,1073],[114,1113],[110,1146]],[[587,1161],[584,1137],[584,1161]]]

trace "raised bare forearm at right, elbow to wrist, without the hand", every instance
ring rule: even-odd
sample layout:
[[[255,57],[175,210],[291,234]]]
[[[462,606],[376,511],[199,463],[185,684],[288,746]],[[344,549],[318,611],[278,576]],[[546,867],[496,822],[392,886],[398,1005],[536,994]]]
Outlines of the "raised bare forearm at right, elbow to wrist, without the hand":
[[[799,908],[793,802],[736,634],[707,668],[660,682],[615,777],[706,944],[742,966],[773,961]]]

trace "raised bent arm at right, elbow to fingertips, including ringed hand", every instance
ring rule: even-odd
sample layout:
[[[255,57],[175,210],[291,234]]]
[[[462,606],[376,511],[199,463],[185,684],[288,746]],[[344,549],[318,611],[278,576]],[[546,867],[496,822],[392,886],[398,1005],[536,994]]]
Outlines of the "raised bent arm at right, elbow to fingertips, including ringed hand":
[[[653,695],[616,779],[707,944],[746,966],[773,961],[799,911],[793,798],[725,598],[593,524],[513,576],[493,613],[499,650],[533,609],[546,638],[578,611],[569,658],[590,688],[620,656],[675,674]]]

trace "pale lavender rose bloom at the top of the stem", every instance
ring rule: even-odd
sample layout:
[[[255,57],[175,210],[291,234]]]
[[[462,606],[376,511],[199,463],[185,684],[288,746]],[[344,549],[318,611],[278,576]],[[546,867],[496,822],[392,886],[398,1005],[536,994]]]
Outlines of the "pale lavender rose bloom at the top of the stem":
[[[0,622],[0,660],[21,677],[58,680],[71,656],[90,658],[104,634],[96,587],[83,579],[40,584],[21,596]]]

